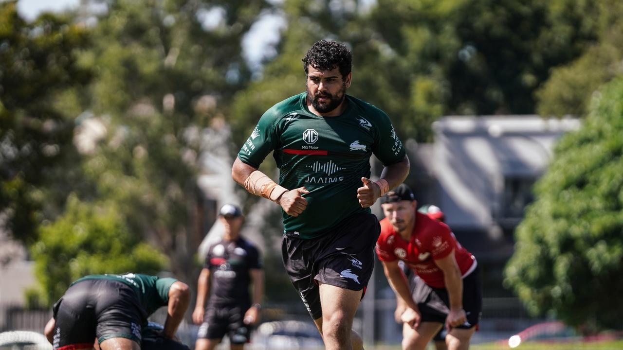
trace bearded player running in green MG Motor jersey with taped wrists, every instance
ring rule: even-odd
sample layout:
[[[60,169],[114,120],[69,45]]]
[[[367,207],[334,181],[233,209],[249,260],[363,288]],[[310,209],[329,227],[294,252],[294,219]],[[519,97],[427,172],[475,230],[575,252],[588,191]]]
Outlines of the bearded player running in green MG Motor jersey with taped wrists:
[[[326,349],[362,349],[353,318],[380,232],[370,206],[409,173],[388,116],[346,95],[352,54],[320,40],[303,58],[307,91],[272,106],[238,153],[232,177],[282,208],[282,258]],[[258,170],[273,152],[279,184]],[[370,157],[384,164],[371,181]]]

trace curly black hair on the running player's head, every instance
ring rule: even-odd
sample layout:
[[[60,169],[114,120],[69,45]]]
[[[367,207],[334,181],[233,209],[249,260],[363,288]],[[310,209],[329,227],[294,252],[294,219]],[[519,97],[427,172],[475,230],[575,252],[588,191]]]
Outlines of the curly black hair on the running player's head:
[[[318,70],[331,70],[338,67],[342,78],[351,72],[353,53],[341,42],[320,40],[307,51],[303,57],[303,69],[308,73],[308,67],[312,65]]]

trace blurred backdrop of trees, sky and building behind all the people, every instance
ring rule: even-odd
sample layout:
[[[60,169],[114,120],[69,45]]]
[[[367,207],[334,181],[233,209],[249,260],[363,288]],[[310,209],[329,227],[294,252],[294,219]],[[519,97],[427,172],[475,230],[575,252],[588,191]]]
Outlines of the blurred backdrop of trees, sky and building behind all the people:
[[[321,348],[278,206],[230,176],[262,113],[304,91],[319,39],[353,50],[348,93],[388,113],[419,205],[477,257],[472,343],[621,336],[620,0],[0,1],[0,331],[41,333],[90,273],[195,290],[235,203],[265,261],[252,348]],[[272,158],[262,171],[276,178]],[[366,348],[399,349],[395,303],[378,265],[355,323]]]

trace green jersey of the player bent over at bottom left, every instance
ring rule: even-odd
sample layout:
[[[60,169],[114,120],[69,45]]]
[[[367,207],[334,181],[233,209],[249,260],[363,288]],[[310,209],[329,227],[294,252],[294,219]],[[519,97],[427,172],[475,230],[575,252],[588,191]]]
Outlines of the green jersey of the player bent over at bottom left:
[[[130,286],[138,296],[138,300],[149,317],[161,306],[169,303],[169,288],[175,278],[159,278],[141,273],[126,273],[125,275],[88,275],[72,283],[83,280],[115,280]]]

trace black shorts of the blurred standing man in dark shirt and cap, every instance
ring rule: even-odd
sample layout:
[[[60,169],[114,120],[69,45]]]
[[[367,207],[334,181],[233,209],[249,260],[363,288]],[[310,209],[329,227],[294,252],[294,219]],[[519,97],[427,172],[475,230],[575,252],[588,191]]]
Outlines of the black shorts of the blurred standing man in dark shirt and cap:
[[[197,339],[222,339],[225,334],[232,344],[249,343],[251,327],[243,322],[244,314],[250,306],[225,305],[208,306],[199,326]]]

